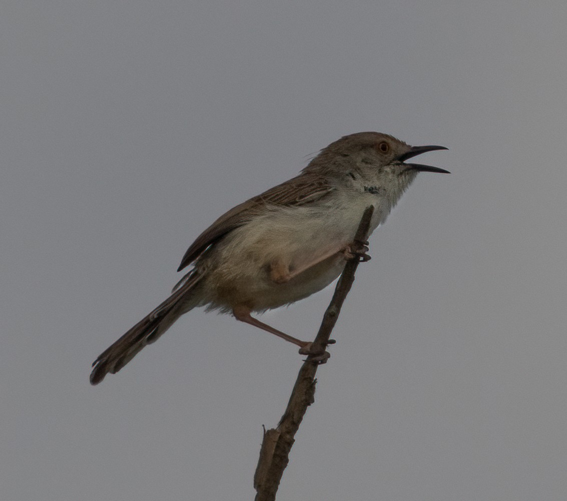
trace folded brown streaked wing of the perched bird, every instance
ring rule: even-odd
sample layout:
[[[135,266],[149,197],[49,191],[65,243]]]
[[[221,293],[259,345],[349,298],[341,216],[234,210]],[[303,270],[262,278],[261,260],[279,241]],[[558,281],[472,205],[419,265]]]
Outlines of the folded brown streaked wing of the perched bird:
[[[177,271],[183,270],[229,231],[250,221],[255,214],[263,212],[266,205],[303,205],[319,200],[334,188],[321,176],[306,172],[278,184],[268,191],[255,196],[246,202],[236,205],[219,217],[212,225],[201,233],[196,241],[187,249]]]

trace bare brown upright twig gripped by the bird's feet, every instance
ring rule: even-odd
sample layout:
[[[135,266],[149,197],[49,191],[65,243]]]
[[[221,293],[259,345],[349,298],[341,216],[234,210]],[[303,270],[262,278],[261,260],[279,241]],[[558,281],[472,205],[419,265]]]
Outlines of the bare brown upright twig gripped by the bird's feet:
[[[356,242],[366,241],[373,212],[374,207],[372,205],[366,208],[354,237]],[[328,356],[321,358],[319,353],[324,353],[329,344],[329,336],[331,336],[331,331],[335,327],[346,294],[352,287],[354,272],[356,272],[360,260],[360,258],[354,259],[346,263],[335,288],[335,294],[333,294],[331,303],[325,311],[321,327],[319,327],[319,332],[311,347],[314,354],[309,355],[299,369],[295,386],[280,424],[277,428],[264,431],[260,458],[254,474],[254,487],[257,492],[256,501],[274,501],[276,499],[280,480],[289,462],[289,452],[295,441],[295,433],[299,429],[299,424],[301,424],[307,407],[315,402],[315,373],[319,365],[325,363],[328,358]]]

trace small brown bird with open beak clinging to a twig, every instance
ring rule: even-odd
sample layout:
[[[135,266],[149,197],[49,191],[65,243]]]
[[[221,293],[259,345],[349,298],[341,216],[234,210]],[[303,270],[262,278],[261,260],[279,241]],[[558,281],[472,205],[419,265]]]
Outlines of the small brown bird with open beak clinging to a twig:
[[[309,354],[310,342],[251,313],[302,300],[337,279],[346,260],[365,255],[367,247],[354,235],[367,207],[374,207],[370,235],[418,172],[449,173],[405,161],[446,149],[409,146],[378,132],[349,134],[320,150],[299,175],[236,205],[189,246],[177,271],[192,268],[171,295],[94,361],[91,384],[120,371],[181,315],[202,306],[230,313]]]

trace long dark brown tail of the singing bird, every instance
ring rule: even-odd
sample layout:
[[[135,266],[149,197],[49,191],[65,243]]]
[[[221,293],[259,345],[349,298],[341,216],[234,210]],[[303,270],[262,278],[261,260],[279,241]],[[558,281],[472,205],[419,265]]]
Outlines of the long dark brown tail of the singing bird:
[[[104,350],[92,363],[91,385],[98,385],[108,373],[116,374],[143,347],[154,343],[177,318],[197,306],[199,301],[193,289],[201,277],[195,270],[189,272],[170,297]]]

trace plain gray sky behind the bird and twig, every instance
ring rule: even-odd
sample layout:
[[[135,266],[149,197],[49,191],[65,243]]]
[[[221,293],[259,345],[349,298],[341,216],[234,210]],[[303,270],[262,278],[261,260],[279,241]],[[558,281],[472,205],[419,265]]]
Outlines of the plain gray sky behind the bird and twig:
[[[564,1],[5,1],[0,485],[253,498],[297,350],[192,311],[96,388],[192,240],[345,134],[450,151],[371,239],[278,500],[548,501],[567,481]],[[264,315],[309,338],[326,289]]]

